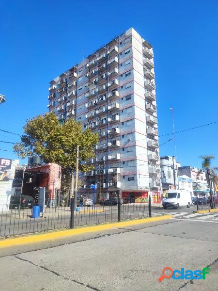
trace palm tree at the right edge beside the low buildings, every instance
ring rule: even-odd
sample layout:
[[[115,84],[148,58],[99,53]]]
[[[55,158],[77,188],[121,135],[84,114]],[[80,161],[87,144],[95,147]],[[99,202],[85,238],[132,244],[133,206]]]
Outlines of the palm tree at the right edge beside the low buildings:
[[[213,209],[215,208],[215,205],[211,189],[211,178],[217,176],[216,172],[218,171],[218,167],[211,167],[212,161],[215,159],[213,155],[200,156],[199,158],[202,159],[202,170],[206,172],[207,183],[210,187],[211,209]]]

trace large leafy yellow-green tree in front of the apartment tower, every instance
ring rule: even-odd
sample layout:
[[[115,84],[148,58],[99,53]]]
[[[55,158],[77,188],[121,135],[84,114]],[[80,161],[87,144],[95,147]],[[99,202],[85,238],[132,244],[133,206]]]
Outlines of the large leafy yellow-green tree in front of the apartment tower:
[[[69,178],[76,169],[78,145],[79,171],[92,169],[88,160],[95,156],[98,133],[92,133],[91,129],[83,130],[82,125],[73,118],[61,125],[54,113],[45,113],[27,120],[23,131],[20,142],[13,147],[20,158],[39,155],[45,163],[61,165],[63,175]]]

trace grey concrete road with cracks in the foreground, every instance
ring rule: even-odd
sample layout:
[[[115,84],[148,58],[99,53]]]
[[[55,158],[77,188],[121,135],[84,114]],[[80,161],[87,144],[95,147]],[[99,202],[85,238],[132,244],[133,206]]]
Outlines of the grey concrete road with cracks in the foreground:
[[[173,219],[159,223],[0,249],[0,290],[218,290],[218,220],[190,217],[193,209],[169,212],[176,212]],[[210,273],[205,280],[165,278],[159,283],[166,266],[209,266]]]

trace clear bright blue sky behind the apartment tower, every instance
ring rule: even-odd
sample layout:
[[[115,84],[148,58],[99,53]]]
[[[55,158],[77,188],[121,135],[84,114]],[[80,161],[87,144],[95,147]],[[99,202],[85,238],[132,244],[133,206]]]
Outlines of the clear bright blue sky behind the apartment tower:
[[[28,117],[47,112],[48,83],[133,27],[154,47],[159,134],[218,120],[218,1],[1,1],[0,129],[22,133]],[[160,144],[170,137],[160,138]],[[16,142],[0,132],[0,140]],[[218,124],[176,135],[177,159],[200,166],[214,154]],[[0,149],[12,146],[0,143]],[[160,147],[174,155],[174,142]],[[13,152],[0,156],[16,158]]]

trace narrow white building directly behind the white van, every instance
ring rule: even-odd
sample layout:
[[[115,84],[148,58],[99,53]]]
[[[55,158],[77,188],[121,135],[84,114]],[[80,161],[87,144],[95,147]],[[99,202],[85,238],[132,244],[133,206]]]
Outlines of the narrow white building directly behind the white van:
[[[160,157],[160,169],[163,194],[170,189],[178,189],[178,170],[175,157]]]

